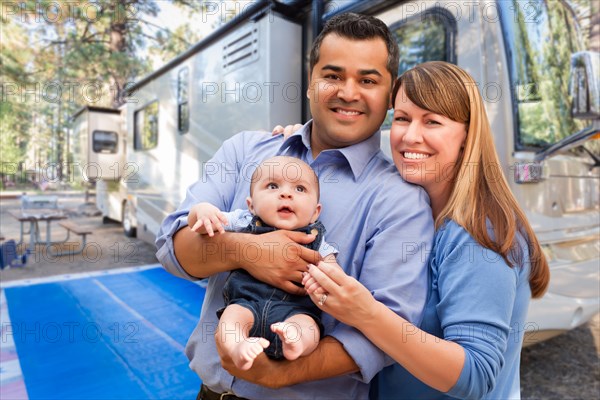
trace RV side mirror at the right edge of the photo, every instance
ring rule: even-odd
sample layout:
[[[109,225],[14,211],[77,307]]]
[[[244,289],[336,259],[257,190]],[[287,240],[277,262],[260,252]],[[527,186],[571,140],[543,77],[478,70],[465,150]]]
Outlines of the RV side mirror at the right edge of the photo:
[[[580,51],[571,56],[573,118],[600,118],[600,53]]]

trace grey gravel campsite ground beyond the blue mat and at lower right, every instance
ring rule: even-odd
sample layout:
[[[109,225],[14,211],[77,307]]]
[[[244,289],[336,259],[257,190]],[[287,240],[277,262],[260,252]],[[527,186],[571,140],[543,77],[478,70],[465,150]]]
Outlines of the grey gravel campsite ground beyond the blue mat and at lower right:
[[[19,204],[18,199],[0,197],[0,234],[6,239],[19,238],[19,224],[7,213]],[[118,224],[103,224],[101,217],[91,215],[95,207],[85,204],[81,194],[62,195],[59,204],[70,221],[93,228],[86,251],[60,258],[41,251],[25,268],[1,271],[0,281],[157,263],[153,245],[125,237]],[[61,229],[56,225],[53,237],[64,237]],[[523,399],[600,399],[600,316],[523,349],[521,359]]]

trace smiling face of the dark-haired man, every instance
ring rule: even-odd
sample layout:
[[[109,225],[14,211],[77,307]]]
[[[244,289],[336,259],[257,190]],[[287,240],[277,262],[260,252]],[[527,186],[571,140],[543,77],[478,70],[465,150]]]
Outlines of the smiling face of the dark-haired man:
[[[310,77],[313,156],[360,143],[379,129],[392,85],[381,38],[350,40],[336,34],[321,43]]]

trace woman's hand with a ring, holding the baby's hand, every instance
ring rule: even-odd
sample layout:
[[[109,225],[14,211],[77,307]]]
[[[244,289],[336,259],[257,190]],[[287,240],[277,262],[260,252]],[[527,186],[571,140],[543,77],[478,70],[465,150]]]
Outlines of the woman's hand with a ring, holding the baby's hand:
[[[302,280],[312,301],[337,320],[360,329],[374,315],[377,301],[335,262],[309,265]]]

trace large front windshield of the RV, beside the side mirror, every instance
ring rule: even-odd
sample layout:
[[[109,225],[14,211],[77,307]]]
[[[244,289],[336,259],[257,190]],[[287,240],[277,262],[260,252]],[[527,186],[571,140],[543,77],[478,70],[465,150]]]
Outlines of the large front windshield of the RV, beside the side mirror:
[[[518,115],[518,149],[546,147],[589,125],[571,117],[571,55],[590,46],[591,1],[500,1]]]

